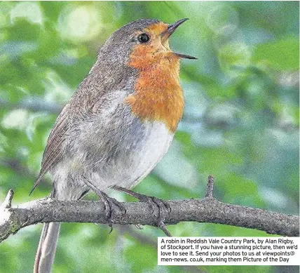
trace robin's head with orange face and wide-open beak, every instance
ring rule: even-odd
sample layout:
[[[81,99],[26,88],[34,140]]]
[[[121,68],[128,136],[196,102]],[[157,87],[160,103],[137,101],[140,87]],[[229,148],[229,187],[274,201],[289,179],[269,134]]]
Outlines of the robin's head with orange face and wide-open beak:
[[[161,60],[178,62],[180,58],[196,59],[190,55],[175,53],[169,46],[170,36],[186,20],[187,18],[170,25],[152,19],[130,22],[116,30],[100,48],[100,52],[137,69],[149,67]]]

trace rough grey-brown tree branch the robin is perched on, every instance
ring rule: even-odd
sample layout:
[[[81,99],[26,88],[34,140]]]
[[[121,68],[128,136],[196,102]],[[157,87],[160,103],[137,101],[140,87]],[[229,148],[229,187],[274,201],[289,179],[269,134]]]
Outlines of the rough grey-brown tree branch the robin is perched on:
[[[207,182],[204,199],[171,200],[171,212],[165,215],[165,224],[175,225],[182,221],[213,222],[236,227],[263,230],[269,234],[299,236],[299,216],[225,204],[212,197],[213,177]],[[0,206],[0,242],[22,227],[38,222],[97,222],[107,224],[104,204],[101,201],[58,201],[39,199],[12,207],[13,190],[8,191]],[[112,208],[111,220],[121,225],[156,226],[158,208],[146,203],[123,203],[126,213]],[[193,235],[193,234],[191,234]]]

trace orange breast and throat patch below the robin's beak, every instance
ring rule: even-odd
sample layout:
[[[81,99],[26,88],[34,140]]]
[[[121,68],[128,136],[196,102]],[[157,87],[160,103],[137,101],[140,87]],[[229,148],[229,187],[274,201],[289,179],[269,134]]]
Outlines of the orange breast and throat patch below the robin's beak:
[[[179,85],[179,58],[165,52],[152,54],[137,46],[128,65],[139,70],[135,93],[125,98],[142,121],[161,121],[175,132],[182,118],[184,98]],[[141,58],[140,56],[143,56]]]

